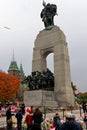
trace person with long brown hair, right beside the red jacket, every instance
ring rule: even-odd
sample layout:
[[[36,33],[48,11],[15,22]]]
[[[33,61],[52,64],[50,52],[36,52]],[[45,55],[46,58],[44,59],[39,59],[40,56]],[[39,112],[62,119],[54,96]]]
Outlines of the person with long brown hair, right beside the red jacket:
[[[39,110],[39,108],[35,109],[34,115],[33,115],[34,124],[41,127],[41,122],[43,121],[43,115],[42,112]]]

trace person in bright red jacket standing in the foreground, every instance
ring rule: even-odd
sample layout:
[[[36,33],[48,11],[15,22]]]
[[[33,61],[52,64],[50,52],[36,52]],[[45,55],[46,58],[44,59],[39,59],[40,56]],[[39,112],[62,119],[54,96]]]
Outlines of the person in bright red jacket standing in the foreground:
[[[30,130],[33,124],[33,112],[31,109],[27,111],[25,123],[27,124],[27,130]]]

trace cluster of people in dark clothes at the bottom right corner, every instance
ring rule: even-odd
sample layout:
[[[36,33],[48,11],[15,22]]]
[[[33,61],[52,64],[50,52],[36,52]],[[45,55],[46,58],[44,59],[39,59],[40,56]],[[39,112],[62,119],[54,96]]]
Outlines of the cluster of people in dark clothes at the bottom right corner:
[[[83,121],[85,123],[85,129],[87,130],[87,112],[84,114]],[[53,125],[55,130],[83,130],[79,122],[76,121],[76,116],[72,113],[65,115],[65,122],[62,123],[58,113],[53,118]]]

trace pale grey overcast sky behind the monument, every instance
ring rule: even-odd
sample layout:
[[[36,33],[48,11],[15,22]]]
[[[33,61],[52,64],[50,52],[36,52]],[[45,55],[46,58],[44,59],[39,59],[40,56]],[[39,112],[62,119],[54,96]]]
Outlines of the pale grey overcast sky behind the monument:
[[[7,72],[13,57],[26,75],[32,72],[34,41],[44,29],[40,18],[43,0],[0,0],[0,69]],[[45,0],[56,4],[55,25],[66,35],[71,80],[79,91],[87,91],[87,0]],[[5,28],[8,27],[8,28]],[[10,28],[10,29],[9,29]],[[53,71],[52,55],[48,56]]]

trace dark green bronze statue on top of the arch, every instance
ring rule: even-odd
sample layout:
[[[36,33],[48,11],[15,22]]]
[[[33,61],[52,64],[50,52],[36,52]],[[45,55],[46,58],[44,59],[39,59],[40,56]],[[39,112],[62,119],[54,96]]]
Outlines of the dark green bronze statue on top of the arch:
[[[54,16],[57,15],[57,6],[55,4],[46,4],[43,1],[44,9],[42,9],[40,17],[44,22],[44,26],[46,30],[50,30],[54,26]]]

